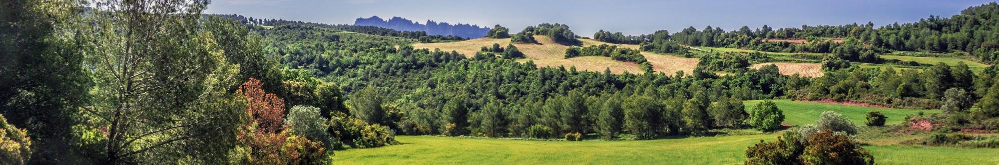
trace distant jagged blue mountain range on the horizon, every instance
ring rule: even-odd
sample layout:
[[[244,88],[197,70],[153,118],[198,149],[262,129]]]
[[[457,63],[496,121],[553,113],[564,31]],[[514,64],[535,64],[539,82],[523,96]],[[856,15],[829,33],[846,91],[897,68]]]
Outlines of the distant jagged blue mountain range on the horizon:
[[[453,35],[472,39],[483,38],[486,36],[486,33],[490,32],[490,28],[479,27],[479,25],[461,23],[451,25],[446,22],[437,23],[431,20],[427,20],[427,24],[420,24],[401,17],[393,17],[388,21],[383,20],[378,16],[372,16],[372,18],[358,18],[357,21],[354,21],[354,26],[374,26],[394,29],[397,31],[423,31],[427,32],[427,35]]]

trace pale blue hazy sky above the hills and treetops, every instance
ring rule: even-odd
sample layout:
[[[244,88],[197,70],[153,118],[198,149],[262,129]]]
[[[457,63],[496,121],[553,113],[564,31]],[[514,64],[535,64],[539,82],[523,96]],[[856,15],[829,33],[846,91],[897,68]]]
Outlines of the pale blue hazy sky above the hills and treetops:
[[[994,1],[994,0],[993,0]],[[597,30],[628,35],[656,30],[675,33],[693,26],[778,28],[801,25],[875,26],[918,21],[929,15],[950,17],[984,0],[761,0],[761,1],[615,1],[615,0],[214,0],[207,13],[240,14],[326,24],[354,24],[359,17],[403,17],[466,23],[500,24],[511,32],[540,23],[567,24],[579,36]]]

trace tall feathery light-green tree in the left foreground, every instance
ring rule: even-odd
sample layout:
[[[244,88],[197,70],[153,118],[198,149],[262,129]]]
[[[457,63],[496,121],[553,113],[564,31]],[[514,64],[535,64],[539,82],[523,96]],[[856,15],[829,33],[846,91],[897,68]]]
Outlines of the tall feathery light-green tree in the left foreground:
[[[199,19],[206,0],[99,0],[93,6],[93,105],[104,163],[221,163],[236,143],[239,72]]]

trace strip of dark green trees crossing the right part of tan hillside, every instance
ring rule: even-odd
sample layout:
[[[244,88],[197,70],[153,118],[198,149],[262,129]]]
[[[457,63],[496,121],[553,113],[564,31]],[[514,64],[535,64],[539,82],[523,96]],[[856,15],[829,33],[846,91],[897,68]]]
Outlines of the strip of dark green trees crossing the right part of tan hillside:
[[[589,47],[569,47],[565,49],[565,59],[583,57],[583,56],[601,56],[610,57],[615,61],[621,62],[631,62],[640,65],[642,71],[652,71],[652,65],[648,64],[645,60],[645,56],[641,55],[638,50],[632,50],[628,48],[618,48],[617,46],[608,46],[606,44],[593,45]]]

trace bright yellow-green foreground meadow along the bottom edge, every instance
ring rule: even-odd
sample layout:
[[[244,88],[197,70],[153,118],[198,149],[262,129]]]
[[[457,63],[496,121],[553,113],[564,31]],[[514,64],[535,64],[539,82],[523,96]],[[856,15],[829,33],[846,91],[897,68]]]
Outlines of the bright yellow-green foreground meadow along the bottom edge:
[[[336,164],[742,164],[777,134],[623,141],[397,136],[401,145],[337,151]],[[999,149],[870,145],[878,164],[999,164]]]

